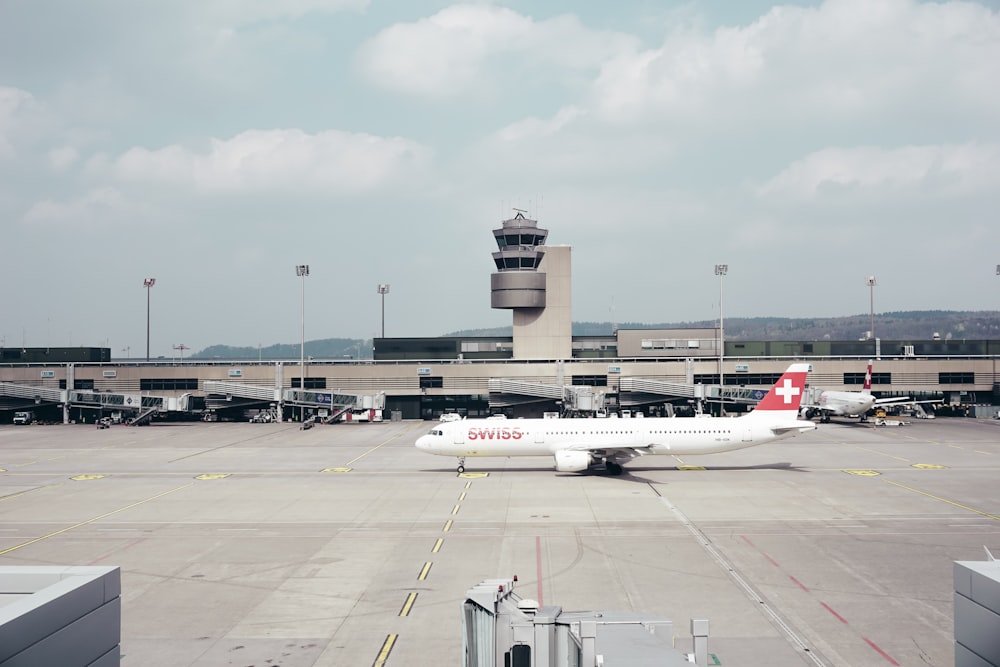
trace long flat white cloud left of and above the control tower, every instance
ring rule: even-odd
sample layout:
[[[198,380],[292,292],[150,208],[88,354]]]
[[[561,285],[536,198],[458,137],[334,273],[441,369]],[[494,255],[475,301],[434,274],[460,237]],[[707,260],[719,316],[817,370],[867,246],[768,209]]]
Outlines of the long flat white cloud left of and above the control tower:
[[[298,129],[250,130],[206,150],[132,148],[111,166],[124,181],[205,192],[361,193],[422,178],[431,152],[398,137]],[[99,170],[106,160],[97,160]]]

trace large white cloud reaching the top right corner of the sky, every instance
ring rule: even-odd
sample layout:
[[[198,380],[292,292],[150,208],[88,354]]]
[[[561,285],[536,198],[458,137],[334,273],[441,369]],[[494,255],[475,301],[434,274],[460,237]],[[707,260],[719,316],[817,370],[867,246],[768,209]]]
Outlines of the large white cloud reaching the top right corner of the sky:
[[[981,5],[827,0],[711,34],[679,27],[659,48],[610,60],[593,98],[611,121],[684,119],[722,131],[873,113],[981,114],[992,124],[996,62],[1000,18]]]

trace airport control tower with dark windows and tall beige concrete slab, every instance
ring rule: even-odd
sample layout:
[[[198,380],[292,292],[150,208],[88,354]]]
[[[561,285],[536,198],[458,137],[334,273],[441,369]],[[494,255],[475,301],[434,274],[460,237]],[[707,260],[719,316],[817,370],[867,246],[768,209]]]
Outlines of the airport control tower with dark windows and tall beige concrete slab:
[[[515,209],[517,210],[517,209]],[[573,355],[569,246],[546,246],[548,230],[518,211],[493,230],[497,272],[490,305],[514,311],[515,359],[569,359]]]

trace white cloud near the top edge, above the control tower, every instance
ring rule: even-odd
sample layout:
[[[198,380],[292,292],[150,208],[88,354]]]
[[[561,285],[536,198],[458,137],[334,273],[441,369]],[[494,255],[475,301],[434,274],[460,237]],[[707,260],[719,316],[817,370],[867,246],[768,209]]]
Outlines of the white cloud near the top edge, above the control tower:
[[[535,21],[493,5],[454,5],[413,23],[392,25],[357,53],[374,84],[424,97],[490,94],[567,73],[597,71],[635,39],[591,30],[574,16]],[[572,76],[570,77],[572,78]],[[522,88],[523,90],[523,88]]]

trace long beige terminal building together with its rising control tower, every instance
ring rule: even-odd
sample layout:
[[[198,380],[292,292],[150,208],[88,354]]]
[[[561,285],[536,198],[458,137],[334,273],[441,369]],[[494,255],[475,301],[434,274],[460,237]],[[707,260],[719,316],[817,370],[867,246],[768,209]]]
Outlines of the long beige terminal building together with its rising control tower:
[[[788,364],[810,387],[857,390],[875,359],[876,394],[941,398],[994,416],[997,340],[724,341],[720,328],[572,333],[572,248],[518,212],[493,230],[490,303],[510,336],[376,338],[373,359],[115,360],[107,348],[0,349],[0,423],[107,416],[332,421],[553,413],[668,415],[751,409]],[[304,377],[303,377],[304,375]]]

